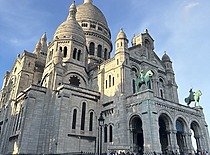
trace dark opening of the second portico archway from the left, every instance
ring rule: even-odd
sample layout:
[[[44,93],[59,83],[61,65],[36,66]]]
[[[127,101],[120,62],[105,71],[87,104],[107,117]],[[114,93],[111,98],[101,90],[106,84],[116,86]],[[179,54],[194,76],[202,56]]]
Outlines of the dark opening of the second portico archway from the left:
[[[168,150],[168,133],[166,131],[166,123],[163,117],[159,118],[159,136],[162,152],[167,152]]]

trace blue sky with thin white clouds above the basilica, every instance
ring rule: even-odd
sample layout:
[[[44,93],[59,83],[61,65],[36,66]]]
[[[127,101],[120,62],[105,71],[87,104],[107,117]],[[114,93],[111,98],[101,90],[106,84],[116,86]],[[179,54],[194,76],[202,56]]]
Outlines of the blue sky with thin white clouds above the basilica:
[[[51,41],[66,19],[72,0],[0,0],[0,81],[18,54],[33,51],[44,32]],[[83,0],[76,0],[76,5]],[[189,89],[201,90],[201,106],[210,125],[210,1],[209,0],[94,0],[104,13],[112,42],[124,29],[129,40],[147,28],[156,54],[170,56],[179,100]],[[0,86],[2,83],[0,82]]]

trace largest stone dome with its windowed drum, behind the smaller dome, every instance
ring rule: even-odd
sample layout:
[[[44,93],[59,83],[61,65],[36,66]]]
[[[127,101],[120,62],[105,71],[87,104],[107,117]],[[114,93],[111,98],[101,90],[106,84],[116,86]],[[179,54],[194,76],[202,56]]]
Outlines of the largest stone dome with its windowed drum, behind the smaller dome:
[[[76,20],[86,36],[89,63],[100,63],[110,58],[111,33],[106,18],[92,0],[84,0],[77,7]]]

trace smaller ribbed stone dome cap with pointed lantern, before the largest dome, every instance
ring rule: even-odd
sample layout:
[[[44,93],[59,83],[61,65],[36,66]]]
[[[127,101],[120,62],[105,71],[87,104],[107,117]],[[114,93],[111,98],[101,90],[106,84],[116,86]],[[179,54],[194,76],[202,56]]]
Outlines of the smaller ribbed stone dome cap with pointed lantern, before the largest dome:
[[[73,3],[69,8],[69,15],[55,31],[54,40],[64,38],[75,38],[85,42],[85,34],[82,27],[76,21],[76,6]]]

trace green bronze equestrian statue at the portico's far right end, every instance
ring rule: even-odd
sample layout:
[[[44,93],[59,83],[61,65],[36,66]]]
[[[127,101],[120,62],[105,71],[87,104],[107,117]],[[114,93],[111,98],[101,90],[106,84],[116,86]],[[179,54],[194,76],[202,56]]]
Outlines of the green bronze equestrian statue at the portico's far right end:
[[[189,106],[192,101],[195,101],[195,106],[196,106],[196,103],[198,103],[198,106],[200,107],[199,100],[200,100],[200,96],[202,95],[201,90],[194,92],[192,91],[192,89],[190,89],[189,92],[190,92],[190,95],[187,98],[185,98],[185,102],[187,103],[187,105]]]

